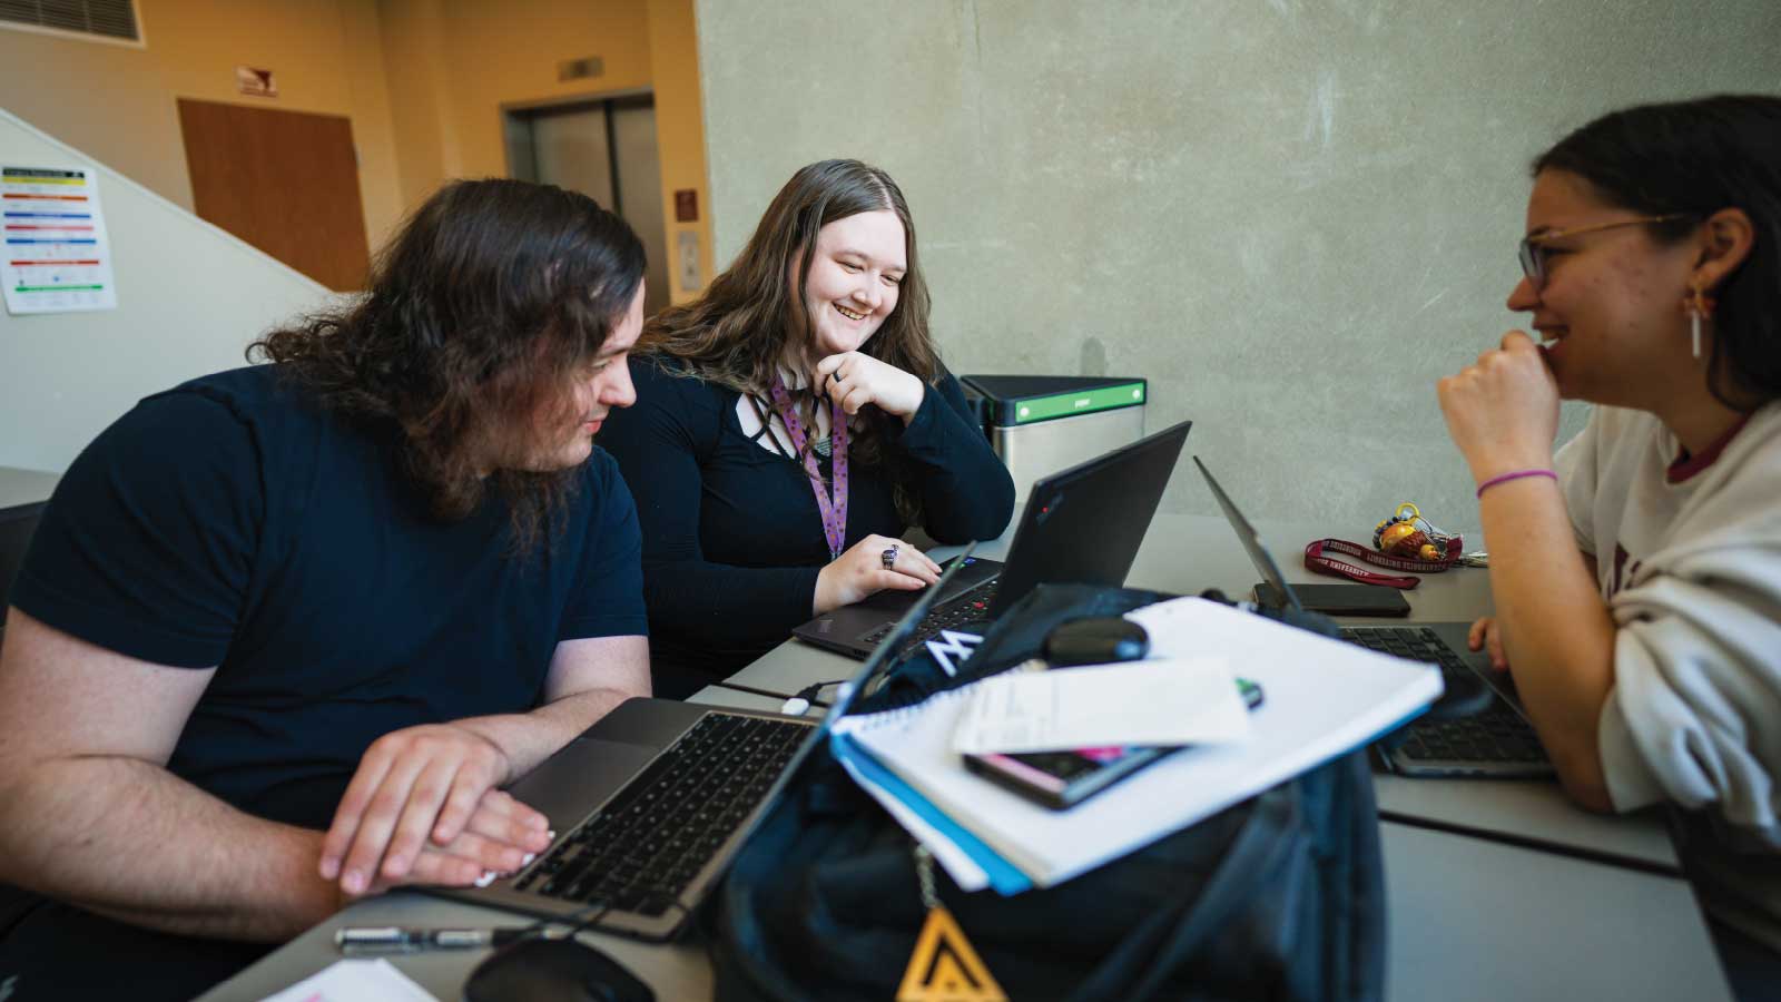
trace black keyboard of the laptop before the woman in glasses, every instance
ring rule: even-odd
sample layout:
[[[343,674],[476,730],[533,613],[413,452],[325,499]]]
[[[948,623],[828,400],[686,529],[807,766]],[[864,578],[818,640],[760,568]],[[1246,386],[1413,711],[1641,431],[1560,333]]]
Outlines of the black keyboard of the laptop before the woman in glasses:
[[[1343,629],[1341,638],[1386,654],[1439,665],[1441,679],[1450,688],[1452,679],[1473,685],[1475,672],[1434,629],[1414,626]],[[1412,720],[1398,754],[1419,761],[1525,765],[1546,761],[1546,751],[1533,727],[1501,699],[1480,713],[1457,720]]]

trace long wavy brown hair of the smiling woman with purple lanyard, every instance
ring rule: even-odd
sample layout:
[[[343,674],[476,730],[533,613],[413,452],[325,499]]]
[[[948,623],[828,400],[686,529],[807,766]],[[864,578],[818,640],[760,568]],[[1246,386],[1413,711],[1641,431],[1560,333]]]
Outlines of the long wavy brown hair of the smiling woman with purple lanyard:
[[[928,283],[915,255],[915,223],[890,175],[858,160],[821,160],[794,173],[773,196],[730,269],[716,276],[702,298],[650,319],[638,353],[659,364],[675,360],[677,365],[663,369],[720,383],[777,412],[768,399],[773,374],[791,353],[787,348],[801,349],[812,337],[803,287],[817,232],[835,219],[885,209],[903,223],[908,271],[896,308],[860,351],[933,385],[942,369],[928,333]],[[793,394],[793,407],[805,428],[816,426],[812,390]],[[867,415],[853,439],[853,456],[864,464],[880,460],[883,424],[883,414]],[[901,489],[898,510],[915,521],[914,503]]]

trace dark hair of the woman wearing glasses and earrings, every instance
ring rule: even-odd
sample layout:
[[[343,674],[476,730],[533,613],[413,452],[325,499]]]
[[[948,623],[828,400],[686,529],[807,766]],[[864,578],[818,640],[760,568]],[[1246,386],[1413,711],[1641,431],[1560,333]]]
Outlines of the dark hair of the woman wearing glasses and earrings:
[[[1683,219],[1651,223],[1676,242],[1720,209],[1754,225],[1751,255],[1713,296],[1706,387],[1735,410],[1781,398],[1781,98],[1719,94],[1605,114],[1533,159],[1621,209]]]

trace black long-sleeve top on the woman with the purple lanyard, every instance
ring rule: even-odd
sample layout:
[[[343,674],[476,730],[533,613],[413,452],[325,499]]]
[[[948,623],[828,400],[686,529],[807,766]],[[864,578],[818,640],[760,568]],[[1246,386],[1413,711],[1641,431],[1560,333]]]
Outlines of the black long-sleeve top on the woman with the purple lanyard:
[[[810,619],[830,560],[816,496],[800,460],[743,433],[736,390],[641,358],[630,378],[638,403],[613,410],[598,442],[638,503],[650,656],[721,679]],[[907,428],[885,423],[882,460],[848,464],[846,546],[903,533],[898,481],[919,497],[937,542],[1008,528],[1013,480],[969,414],[958,380],[944,374]]]

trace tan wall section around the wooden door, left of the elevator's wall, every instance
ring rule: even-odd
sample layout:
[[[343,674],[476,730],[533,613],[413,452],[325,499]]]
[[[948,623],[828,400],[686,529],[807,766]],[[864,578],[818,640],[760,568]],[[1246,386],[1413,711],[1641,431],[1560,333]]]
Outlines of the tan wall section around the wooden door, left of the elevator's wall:
[[[144,48],[0,30],[5,107],[191,209],[178,98],[353,119],[365,228],[376,244],[403,210],[372,0],[137,0]],[[278,75],[246,98],[235,66]]]

